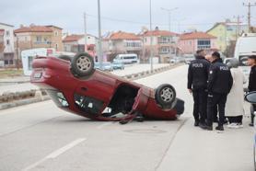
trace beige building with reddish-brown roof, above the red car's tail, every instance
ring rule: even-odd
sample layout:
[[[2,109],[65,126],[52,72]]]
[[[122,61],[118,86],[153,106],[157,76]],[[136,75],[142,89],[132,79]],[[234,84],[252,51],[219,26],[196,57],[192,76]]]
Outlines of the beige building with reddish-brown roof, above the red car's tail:
[[[55,26],[21,26],[14,31],[19,51],[34,48],[54,48],[63,51],[62,29]]]

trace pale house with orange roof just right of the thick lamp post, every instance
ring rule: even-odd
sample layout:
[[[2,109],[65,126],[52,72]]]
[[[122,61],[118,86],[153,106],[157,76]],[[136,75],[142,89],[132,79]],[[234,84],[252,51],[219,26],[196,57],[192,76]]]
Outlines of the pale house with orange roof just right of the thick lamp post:
[[[102,49],[108,60],[112,60],[117,54],[136,53],[142,54],[142,40],[134,33],[123,31],[112,32],[102,41]]]

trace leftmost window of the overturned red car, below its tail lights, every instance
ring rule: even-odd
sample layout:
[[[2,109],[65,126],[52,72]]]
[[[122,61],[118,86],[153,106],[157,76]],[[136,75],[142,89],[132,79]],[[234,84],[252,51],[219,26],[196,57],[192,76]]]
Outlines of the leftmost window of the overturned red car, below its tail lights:
[[[53,102],[58,106],[58,107],[64,107],[67,108],[68,102],[66,98],[64,97],[64,94],[60,91],[56,90],[47,90],[47,94],[52,97]]]

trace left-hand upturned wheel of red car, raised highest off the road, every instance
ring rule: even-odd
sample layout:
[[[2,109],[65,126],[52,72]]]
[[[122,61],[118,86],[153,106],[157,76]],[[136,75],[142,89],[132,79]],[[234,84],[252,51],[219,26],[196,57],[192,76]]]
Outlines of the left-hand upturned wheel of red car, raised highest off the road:
[[[71,71],[77,76],[89,76],[94,72],[94,60],[87,52],[77,53],[71,63]]]

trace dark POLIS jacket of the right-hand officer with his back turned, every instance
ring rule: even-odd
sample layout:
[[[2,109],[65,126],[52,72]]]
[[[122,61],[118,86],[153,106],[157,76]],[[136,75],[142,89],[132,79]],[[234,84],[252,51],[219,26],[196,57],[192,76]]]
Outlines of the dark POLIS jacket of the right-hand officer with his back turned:
[[[208,91],[210,93],[228,94],[233,85],[233,78],[227,65],[221,59],[215,60],[209,69]]]

